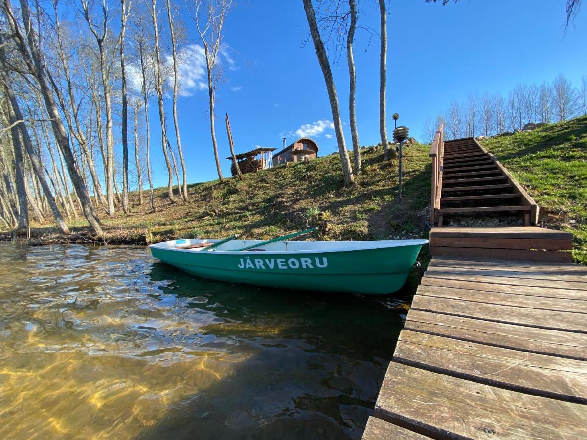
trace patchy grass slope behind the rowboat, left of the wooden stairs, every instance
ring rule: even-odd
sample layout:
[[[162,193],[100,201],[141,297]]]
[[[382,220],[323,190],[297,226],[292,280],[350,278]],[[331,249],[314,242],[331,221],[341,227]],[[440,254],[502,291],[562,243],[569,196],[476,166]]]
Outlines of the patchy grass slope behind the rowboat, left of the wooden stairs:
[[[137,205],[130,195],[130,215],[102,215],[107,240],[112,243],[157,242],[171,238],[218,238],[238,233],[244,238],[272,238],[312,225],[323,212],[330,231],[322,239],[383,239],[427,235],[429,226],[429,148],[404,149],[404,198],[397,203],[397,160],[384,162],[381,148],[363,148],[364,172],[352,188],[343,187],[340,158],[318,158],[245,174],[244,180],[190,185],[189,201],[171,204],[166,188],[157,188],[155,209]],[[423,211],[424,210],[424,211]],[[85,221],[73,225],[83,232]],[[77,226],[77,227],[76,227]],[[38,228],[36,236],[49,238],[55,228]]]

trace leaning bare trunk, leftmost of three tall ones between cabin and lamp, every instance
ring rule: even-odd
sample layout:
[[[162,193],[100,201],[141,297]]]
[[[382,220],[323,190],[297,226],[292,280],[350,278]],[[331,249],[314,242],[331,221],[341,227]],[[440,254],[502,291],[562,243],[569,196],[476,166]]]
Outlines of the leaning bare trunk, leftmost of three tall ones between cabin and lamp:
[[[342,130],[342,121],[340,120],[340,109],[338,104],[338,97],[336,96],[336,89],[334,80],[332,78],[332,71],[330,70],[330,63],[328,62],[328,56],[324,48],[324,43],[320,36],[318,25],[316,24],[316,15],[312,6],[312,0],[302,0],[303,8],[306,11],[306,18],[308,19],[308,25],[310,27],[310,35],[314,43],[314,49],[316,50],[316,56],[320,67],[322,68],[322,74],[324,81],[326,82],[326,90],[328,91],[328,98],[330,100],[330,108],[332,109],[332,121],[334,123],[334,130],[336,134],[336,141],[338,143],[338,152],[340,154],[340,162],[342,164],[342,173],[345,178],[345,187],[349,187],[354,183],[354,176],[352,166],[350,165],[349,153],[346,150],[345,134]]]

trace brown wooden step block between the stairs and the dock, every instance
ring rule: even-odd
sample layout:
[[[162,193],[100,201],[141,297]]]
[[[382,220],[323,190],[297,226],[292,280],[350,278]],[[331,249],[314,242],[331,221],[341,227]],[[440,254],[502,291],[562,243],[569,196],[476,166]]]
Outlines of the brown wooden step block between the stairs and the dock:
[[[571,262],[573,235],[536,226],[432,228],[430,254]]]

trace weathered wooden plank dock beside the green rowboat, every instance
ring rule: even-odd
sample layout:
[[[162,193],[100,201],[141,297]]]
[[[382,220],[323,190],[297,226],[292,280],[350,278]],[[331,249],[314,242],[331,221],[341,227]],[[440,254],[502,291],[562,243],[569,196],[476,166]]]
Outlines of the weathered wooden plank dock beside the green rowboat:
[[[363,438],[427,436],[587,438],[585,266],[431,260]]]

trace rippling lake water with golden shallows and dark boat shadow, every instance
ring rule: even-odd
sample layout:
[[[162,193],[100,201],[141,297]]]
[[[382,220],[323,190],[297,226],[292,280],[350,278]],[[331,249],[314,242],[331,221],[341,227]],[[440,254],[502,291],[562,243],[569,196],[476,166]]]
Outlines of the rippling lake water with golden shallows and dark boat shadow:
[[[0,438],[359,438],[394,304],[0,243]]]

